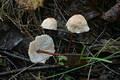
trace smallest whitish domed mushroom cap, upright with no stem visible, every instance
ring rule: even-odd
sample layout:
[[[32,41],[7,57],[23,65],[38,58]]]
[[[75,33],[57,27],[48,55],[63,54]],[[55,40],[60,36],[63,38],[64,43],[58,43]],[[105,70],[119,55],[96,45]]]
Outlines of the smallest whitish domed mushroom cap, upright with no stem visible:
[[[41,27],[50,30],[57,30],[57,21],[55,18],[46,18],[42,22]]]

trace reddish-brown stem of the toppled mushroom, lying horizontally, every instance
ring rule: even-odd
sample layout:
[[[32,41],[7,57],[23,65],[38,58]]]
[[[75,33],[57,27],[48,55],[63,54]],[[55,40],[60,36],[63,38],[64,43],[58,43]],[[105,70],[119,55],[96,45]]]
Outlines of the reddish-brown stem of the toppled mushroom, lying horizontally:
[[[45,53],[45,54],[49,54],[49,55],[57,55],[57,56],[85,56],[82,54],[61,54],[61,53],[51,53],[51,52],[47,52],[47,51],[43,51],[43,50],[38,50],[37,53]]]

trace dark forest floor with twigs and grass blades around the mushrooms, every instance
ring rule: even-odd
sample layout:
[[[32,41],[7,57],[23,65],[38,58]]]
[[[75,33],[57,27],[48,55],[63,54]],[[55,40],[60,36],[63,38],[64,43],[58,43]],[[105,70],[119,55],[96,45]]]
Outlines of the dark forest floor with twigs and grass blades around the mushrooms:
[[[44,0],[35,9],[17,1],[0,1],[0,80],[120,80],[119,0]],[[32,63],[29,44],[38,35],[50,35],[55,52],[66,53],[71,32],[65,25],[74,14],[85,17],[90,31],[74,34],[69,54],[87,60],[71,55],[63,65],[59,56]],[[57,20],[57,30],[40,27],[48,17]]]

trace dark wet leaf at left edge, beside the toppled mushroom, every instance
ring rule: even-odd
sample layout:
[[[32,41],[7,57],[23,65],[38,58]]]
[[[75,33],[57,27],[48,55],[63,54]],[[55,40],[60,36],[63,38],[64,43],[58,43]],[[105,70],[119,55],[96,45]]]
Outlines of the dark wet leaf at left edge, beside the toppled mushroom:
[[[23,40],[22,35],[11,29],[8,25],[0,25],[0,49],[11,50]]]

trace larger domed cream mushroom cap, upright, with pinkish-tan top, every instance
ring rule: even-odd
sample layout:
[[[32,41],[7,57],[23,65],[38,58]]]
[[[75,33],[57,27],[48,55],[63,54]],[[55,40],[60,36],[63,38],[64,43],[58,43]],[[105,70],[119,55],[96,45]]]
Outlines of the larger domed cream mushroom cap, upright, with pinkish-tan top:
[[[73,33],[83,33],[83,32],[88,32],[90,30],[87,21],[80,14],[73,15],[67,21],[66,26],[67,29]]]

